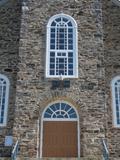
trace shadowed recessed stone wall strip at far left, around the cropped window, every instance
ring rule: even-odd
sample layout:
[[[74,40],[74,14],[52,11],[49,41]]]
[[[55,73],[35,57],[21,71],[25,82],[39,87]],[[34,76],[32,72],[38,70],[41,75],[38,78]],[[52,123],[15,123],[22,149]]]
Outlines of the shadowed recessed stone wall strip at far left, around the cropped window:
[[[7,126],[0,127],[0,147],[4,146],[5,136],[12,135],[13,131],[20,18],[20,5],[17,1],[10,0],[0,5],[0,74],[6,75],[10,80]],[[2,150],[0,155],[4,152]]]

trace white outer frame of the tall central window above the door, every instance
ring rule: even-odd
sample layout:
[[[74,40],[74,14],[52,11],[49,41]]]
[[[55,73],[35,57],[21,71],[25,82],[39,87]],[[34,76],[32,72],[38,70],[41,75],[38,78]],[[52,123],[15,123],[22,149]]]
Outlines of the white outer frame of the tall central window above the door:
[[[50,29],[51,29],[51,24],[52,22],[57,19],[57,18],[67,18],[71,23],[72,23],[72,27],[73,27],[73,75],[50,75],[49,71],[50,71]],[[78,33],[77,33],[77,23],[76,21],[69,15],[66,14],[57,14],[52,16],[49,19],[49,22],[47,24],[47,37],[46,37],[47,41],[46,41],[46,72],[45,72],[45,76],[46,78],[78,78]],[[58,52],[59,50],[54,49],[54,52]],[[61,50],[60,50],[61,51]],[[64,50],[63,50],[64,52]],[[68,50],[65,49],[65,52],[68,52]],[[69,51],[70,52],[70,51]],[[67,55],[68,58],[68,55]],[[56,62],[55,62],[56,64]],[[68,62],[67,62],[68,65]],[[56,69],[56,66],[55,66]]]

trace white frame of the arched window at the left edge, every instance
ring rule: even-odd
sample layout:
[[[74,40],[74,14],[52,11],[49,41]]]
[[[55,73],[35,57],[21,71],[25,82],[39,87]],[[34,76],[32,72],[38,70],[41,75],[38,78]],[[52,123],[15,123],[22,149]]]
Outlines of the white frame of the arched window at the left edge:
[[[10,86],[10,82],[9,82],[9,79],[5,75],[0,74],[0,78],[4,79],[6,81],[4,118],[3,118],[3,123],[0,123],[0,127],[4,127],[7,124],[7,111],[8,111],[8,99],[9,99],[9,86]]]

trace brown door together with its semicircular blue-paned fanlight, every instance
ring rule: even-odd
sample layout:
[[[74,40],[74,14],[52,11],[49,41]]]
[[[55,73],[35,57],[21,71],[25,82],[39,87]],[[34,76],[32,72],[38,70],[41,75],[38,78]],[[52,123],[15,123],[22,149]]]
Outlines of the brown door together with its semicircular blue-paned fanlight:
[[[78,157],[78,116],[65,102],[50,105],[43,114],[42,157]]]

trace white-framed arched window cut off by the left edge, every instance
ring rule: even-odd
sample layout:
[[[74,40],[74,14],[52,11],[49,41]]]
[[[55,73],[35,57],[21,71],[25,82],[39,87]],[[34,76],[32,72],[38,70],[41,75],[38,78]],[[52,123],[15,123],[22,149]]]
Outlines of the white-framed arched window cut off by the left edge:
[[[9,80],[0,74],[0,126],[6,125],[9,95]]]

